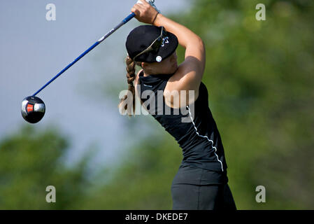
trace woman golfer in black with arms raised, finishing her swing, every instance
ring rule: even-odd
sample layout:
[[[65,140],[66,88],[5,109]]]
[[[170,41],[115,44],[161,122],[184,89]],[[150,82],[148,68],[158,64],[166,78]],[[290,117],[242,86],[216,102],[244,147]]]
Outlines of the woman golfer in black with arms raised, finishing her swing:
[[[203,41],[146,1],[136,3],[131,11],[149,25],[136,27],[127,36],[127,83],[133,97],[131,104],[126,103],[128,95],[122,99],[120,111],[134,113],[136,94],[182,148],[183,161],[171,186],[173,209],[236,209],[227,184],[222,140],[208,107],[207,88],[201,83],[206,60]],[[179,66],[178,44],[185,48],[185,61]],[[136,64],[142,68],[137,74]]]

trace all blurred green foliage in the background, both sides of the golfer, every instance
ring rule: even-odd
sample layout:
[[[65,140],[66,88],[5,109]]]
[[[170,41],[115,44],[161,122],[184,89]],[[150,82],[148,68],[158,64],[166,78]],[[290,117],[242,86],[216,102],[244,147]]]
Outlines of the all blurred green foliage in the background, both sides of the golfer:
[[[255,19],[257,3],[266,5],[266,21]],[[171,18],[206,45],[203,82],[238,209],[314,209],[313,1],[191,5]],[[181,47],[178,59],[184,59]],[[155,121],[122,119],[129,130],[122,141],[141,139],[141,121],[155,133],[90,182],[87,159],[71,168],[60,162],[69,142],[56,130],[27,127],[3,139],[0,209],[171,209],[171,181],[182,160],[178,144]],[[57,188],[55,204],[45,202],[48,185]],[[266,187],[266,203],[255,202],[259,185]]]

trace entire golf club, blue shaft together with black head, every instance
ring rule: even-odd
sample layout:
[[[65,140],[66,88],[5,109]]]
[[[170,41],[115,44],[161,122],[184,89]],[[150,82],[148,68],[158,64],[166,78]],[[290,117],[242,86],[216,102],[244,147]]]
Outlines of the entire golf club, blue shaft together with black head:
[[[155,0],[146,0],[146,1],[150,3],[150,5],[159,12],[159,10],[156,8],[154,4]],[[36,94],[41,92],[41,90],[47,87],[56,78],[61,76],[62,73],[64,73],[64,71],[68,70],[73,64],[76,64],[76,62],[78,62],[79,59],[87,55],[87,53],[90,52],[92,49],[94,49],[97,45],[99,45],[99,43],[104,41],[108,36],[113,34],[115,31],[117,31],[117,29],[122,27],[124,24],[129,22],[129,20],[131,20],[134,17],[135,17],[134,13],[131,13],[130,15],[128,15],[127,18],[124,18],[124,20],[122,20],[122,22],[120,22],[117,26],[115,26],[113,29],[110,29],[110,31],[108,31],[106,35],[102,36],[98,41],[96,41],[96,43],[94,43],[92,46],[90,46],[90,48],[85,50],[85,52],[83,52],[80,56],[78,56],[73,62],[68,64],[64,69],[62,69],[62,71],[57,73],[55,77],[49,80],[48,83],[43,85],[43,87],[41,87],[37,92],[35,92],[33,95],[29,97],[25,97],[22,101],[22,109],[21,109],[22,117],[24,118],[24,120],[26,120],[29,123],[38,123],[38,121],[40,121],[45,115],[45,104],[43,100],[36,97]]]

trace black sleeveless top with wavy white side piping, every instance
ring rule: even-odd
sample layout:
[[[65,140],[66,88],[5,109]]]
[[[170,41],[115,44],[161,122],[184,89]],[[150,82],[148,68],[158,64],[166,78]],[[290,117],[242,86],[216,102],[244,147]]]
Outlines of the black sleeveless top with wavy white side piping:
[[[190,165],[215,172],[227,172],[220,133],[208,106],[206,86],[201,83],[199,97],[193,104],[186,106],[184,110],[172,109],[164,103],[163,97],[164,88],[171,76],[173,74],[143,76],[141,71],[136,88],[138,94],[141,94],[144,107],[182,148],[181,166]],[[155,97],[152,97],[152,93]]]

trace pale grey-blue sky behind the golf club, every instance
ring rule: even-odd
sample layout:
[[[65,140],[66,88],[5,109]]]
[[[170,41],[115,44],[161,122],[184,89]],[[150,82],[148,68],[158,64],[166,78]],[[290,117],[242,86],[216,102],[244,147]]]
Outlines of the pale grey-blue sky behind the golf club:
[[[46,20],[46,6],[55,4],[56,20]],[[73,62],[101,36],[122,21],[135,1],[104,0],[1,0],[0,1],[0,140],[26,122],[21,116],[24,97]],[[157,0],[164,15],[187,10],[188,0]],[[125,40],[134,27],[131,20],[83,59],[74,64],[37,97],[46,112],[34,125],[38,130],[60,127],[71,142],[69,161],[76,161],[96,144],[97,162],[114,161],[127,146],[125,120],[117,110],[113,83],[124,83]],[[145,125],[143,129],[150,132]],[[142,130],[143,132],[143,130]]]

